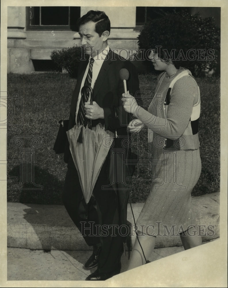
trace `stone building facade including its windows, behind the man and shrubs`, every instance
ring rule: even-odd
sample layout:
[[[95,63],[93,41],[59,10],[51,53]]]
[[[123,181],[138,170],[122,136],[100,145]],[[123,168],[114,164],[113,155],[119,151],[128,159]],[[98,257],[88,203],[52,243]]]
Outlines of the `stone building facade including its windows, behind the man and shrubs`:
[[[55,49],[80,46],[75,29],[76,19],[89,10],[104,11],[111,22],[108,40],[111,49],[125,58],[128,51],[138,49],[137,36],[144,24],[146,13],[153,7],[8,7],[7,72],[31,73],[48,71],[51,52]],[[202,10],[202,9],[201,9]],[[193,7],[189,12],[198,12]],[[204,16],[211,16],[205,8]],[[217,15],[216,11],[214,12]],[[213,15],[212,15],[213,16]]]

